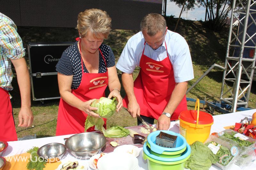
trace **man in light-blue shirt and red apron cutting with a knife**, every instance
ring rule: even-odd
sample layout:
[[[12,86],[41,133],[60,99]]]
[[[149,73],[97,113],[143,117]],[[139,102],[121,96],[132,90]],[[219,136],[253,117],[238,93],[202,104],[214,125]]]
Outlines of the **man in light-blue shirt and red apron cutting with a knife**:
[[[132,117],[141,115],[150,124],[157,119],[157,129],[167,130],[170,120],[187,110],[185,93],[188,81],[194,78],[188,44],[180,34],[168,30],[164,17],[156,13],[145,16],[140,28],[116,64],[127,95],[123,104]],[[133,82],[136,66],[140,73]]]

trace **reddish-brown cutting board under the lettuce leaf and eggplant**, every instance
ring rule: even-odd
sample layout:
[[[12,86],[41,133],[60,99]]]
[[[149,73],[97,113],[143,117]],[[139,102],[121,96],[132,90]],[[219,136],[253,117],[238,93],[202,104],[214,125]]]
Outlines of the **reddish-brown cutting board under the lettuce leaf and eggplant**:
[[[152,126],[152,125],[150,125],[150,126]],[[126,129],[132,129],[132,130],[136,131],[138,134],[140,134],[140,135],[142,135],[142,136],[147,138],[148,134],[144,134],[140,130],[142,127],[145,128],[144,125],[140,125],[140,126],[127,127]],[[132,145],[137,146],[139,148],[143,147],[142,144],[134,144],[133,143],[133,139],[132,139],[132,137],[130,135],[128,135],[127,137],[120,137],[120,138],[109,138],[109,137],[106,137],[106,139],[107,139],[106,146],[102,149],[102,152],[104,152],[104,153],[109,153],[109,152],[113,152],[114,151],[114,149],[116,147],[113,147],[113,146],[110,145],[110,142],[112,142],[112,141],[116,142],[118,144],[117,146],[121,146],[121,145],[124,145],[124,144],[132,144]]]

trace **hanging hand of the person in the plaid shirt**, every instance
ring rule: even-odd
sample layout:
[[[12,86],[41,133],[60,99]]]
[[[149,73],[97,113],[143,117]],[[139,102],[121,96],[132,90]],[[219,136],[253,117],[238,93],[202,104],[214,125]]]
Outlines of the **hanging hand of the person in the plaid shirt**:
[[[19,113],[19,127],[30,127],[33,123],[33,113],[30,107],[21,107]]]

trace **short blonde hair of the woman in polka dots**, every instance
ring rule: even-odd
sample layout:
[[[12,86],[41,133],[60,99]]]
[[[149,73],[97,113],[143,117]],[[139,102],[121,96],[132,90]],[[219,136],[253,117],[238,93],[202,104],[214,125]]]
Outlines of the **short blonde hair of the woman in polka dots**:
[[[76,28],[82,38],[90,31],[95,37],[103,35],[107,39],[111,30],[111,18],[106,11],[88,9],[78,14]]]

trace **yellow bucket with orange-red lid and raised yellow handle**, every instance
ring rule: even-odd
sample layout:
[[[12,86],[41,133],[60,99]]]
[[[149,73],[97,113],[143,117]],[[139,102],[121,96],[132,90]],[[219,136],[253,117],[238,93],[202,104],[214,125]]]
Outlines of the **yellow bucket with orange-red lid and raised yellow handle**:
[[[179,120],[180,134],[185,137],[188,144],[193,144],[195,141],[204,142],[209,137],[213,117],[199,111],[199,99],[196,100],[195,110],[182,111]]]

